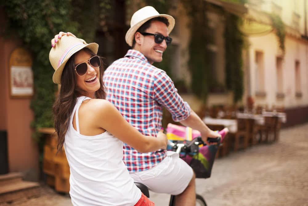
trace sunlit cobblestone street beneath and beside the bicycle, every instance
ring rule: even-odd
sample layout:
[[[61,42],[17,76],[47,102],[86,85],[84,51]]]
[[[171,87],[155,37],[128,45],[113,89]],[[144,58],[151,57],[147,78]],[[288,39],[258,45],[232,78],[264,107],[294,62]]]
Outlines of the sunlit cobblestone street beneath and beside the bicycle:
[[[197,179],[197,193],[209,206],[307,205],[308,124],[282,129],[280,140],[259,144],[215,160],[212,176]],[[150,193],[156,205],[169,195]],[[4,205],[71,205],[68,195],[42,187],[39,198]]]

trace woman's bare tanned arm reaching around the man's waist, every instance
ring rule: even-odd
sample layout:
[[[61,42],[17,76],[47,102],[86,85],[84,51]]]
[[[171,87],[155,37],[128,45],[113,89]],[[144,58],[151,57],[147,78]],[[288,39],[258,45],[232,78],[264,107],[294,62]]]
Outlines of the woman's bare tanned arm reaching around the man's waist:
[[[144,136],[130,125],[110,102],[97,100],[99,103],[95,105],[95,108],[98,109],[95,122],[98,122],[101,128],[140,153],[153,152],[167,147],[167,136],[163,132],[159,132],[157,137]]]

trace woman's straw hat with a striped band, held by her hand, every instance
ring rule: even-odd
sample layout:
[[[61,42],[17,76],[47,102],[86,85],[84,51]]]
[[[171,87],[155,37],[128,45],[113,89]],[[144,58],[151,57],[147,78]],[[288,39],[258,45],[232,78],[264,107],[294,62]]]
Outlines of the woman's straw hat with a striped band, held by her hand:
[[[84,40],[75,38],[74,36],[62,36],[57,45],[51,48],[49,53],[49,61],[55,69],[52,81],[61,84],[61,76],[66,62],[73,54],[83,48],[89,48],[93,53],[97,54],[98,44],[87,44]]]

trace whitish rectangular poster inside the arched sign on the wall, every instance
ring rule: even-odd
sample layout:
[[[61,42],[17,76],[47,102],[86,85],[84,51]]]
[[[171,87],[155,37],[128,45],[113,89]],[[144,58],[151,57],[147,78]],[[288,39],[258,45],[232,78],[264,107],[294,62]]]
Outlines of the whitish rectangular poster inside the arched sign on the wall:
[[[33,73],[30,66],[11,66],[11,96],[32,97]]]

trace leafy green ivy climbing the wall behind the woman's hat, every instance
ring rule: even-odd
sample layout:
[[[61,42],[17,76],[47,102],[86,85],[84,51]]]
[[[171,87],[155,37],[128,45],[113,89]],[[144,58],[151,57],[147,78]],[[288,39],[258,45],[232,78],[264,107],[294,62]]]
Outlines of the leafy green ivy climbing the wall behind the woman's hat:
[[[7,0],[2,6],[7,19],[3,25],[6,27],[4,35],[21,39],[23,46],[33,54],[34,96],[30,107],[34,120],[31,127],[36,131],[33,137],[39,144],[42,161],[44,139],[37,130],[54,126],[52,105],[57,91],[52,82],[54,69],[49,62],[51,39],[59,31],[69,31],[87,42],[93,41],[100,20],[96,17],[99,9],[109,8],[108,0]]]

